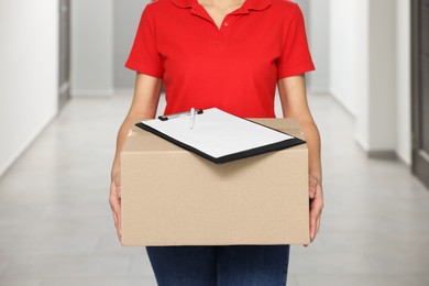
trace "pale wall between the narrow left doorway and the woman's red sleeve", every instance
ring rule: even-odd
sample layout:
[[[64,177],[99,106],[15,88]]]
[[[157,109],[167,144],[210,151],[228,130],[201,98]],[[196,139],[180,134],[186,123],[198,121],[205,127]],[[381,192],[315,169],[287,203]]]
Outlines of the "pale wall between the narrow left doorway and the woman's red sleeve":
[[[72,1],[72,94],[106,96],[134,88],[124,67],[150,0]]]

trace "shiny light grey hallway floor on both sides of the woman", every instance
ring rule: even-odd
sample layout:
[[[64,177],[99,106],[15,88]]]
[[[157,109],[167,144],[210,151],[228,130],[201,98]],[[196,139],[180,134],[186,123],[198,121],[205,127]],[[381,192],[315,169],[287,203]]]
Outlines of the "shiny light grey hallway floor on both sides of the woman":
[[[1,286],[156,285],[144,249],[118,243],[108,206],[130,100],[74,99],[0,178]],[[288,285],[429,285],[429,191],[404,164],[367,158],[332,98],[310,106],[326,209],[314,245],[293,246]]]

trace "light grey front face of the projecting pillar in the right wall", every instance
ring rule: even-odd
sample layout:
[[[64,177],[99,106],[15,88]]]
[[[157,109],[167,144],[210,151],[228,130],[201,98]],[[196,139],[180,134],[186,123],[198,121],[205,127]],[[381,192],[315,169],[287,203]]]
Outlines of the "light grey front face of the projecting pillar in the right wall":
[[[396,150],[396,1],[370,3],[369,152]]]

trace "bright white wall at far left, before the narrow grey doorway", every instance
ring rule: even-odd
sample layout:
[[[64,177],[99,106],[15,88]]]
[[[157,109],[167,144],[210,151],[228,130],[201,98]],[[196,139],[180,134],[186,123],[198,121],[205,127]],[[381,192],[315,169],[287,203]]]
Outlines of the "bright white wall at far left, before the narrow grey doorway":
[[[57,0],[0,1],[0,175],[57,113]]]

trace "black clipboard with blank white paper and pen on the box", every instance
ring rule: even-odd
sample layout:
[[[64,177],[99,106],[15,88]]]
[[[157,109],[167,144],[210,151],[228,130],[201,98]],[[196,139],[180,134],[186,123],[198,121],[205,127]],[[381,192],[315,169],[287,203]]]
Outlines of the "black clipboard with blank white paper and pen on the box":
[[[158,117],[135,125],[216,164],[306,143],[217,108]]]

